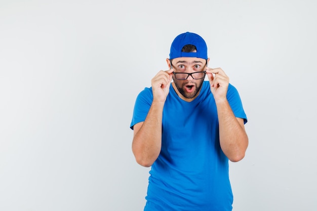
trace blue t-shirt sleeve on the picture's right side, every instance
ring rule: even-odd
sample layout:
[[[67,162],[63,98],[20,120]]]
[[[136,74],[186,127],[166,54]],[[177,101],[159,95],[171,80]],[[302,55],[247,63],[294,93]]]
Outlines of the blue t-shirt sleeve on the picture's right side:
[[[228,92],[227,92],[227,100],[229,102],[229,105],[235,115],[235,117],[243,118],[244,123],[247,123],[248,118],[247,115],[243,109],[242,101],[240,98],[240,95],[235,87],[233,87],[229,83]]]

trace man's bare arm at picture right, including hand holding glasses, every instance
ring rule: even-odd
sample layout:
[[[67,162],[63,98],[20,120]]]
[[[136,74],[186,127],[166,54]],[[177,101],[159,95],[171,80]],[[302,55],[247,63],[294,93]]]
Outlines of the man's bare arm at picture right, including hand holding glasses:
[[[207,74],[217,106],[220,147],[229,160],[240,161],[245,156],[249,140],[243,119],[234,116],[226,98],[229,78],[221,68],[207,68]]]

